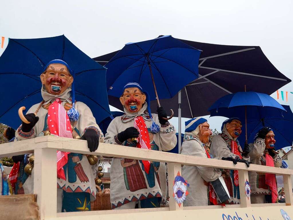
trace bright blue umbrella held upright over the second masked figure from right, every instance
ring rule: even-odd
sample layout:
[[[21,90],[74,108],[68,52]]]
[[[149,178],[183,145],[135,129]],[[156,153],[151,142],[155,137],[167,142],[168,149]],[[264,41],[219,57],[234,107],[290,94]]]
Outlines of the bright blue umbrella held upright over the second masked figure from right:
[[[264,121],[269,116],[282,116],[286,111],[275,99],[258,92],[236,92],[218,99],[209,109],[211,116],[237,117],[247,121]]]

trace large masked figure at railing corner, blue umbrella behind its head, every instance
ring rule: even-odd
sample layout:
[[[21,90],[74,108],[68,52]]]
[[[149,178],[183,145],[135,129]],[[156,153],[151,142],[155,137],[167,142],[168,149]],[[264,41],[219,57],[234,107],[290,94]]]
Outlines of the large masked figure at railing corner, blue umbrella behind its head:
[[[62,60],[52,60],[40,79],[43,101],[28,110],[22,119],[27,122],[17,129],[15,141],[51,134],[87,140],[90,151],[95,151],[104,136],[88,106],[75,102],[74,72],[69,65]],[[38,113],[34,114],[38,107]],[[57,162],[57,211],[90,210],[90,201],[96,199],[98,165],[90,165],[86,155],[78,153],[57,151],[57,157],[60,158]],[[33,163],[31,158],[30,163]],[[24,176],[16,192],[33,193],[33,176],[33,173]]]

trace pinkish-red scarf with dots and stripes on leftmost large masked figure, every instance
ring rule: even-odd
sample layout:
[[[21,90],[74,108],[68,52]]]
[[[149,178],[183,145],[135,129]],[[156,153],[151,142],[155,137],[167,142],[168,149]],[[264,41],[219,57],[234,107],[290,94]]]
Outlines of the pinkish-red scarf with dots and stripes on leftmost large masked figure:
[[[61,100],[56,99],[48,109],[48,126],[51,135],[72,138],[72,130],[66,110],[60,104]],[[57,178],[65,180],[63,166],[68,162],[69,152],[57,150]]]

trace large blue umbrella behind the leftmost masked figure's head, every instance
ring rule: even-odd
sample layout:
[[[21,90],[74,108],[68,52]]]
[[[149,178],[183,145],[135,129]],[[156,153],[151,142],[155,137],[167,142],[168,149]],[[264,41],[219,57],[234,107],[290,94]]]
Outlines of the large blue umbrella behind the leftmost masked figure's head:
[[[10,38],[0,57],[1,123],[17,128],[21,123],[18,109],[42,101],[40,74],[45,65],[54,59],[64,60],[74,71],[75,99],[88,105],[97,123],[111,114],[106,68],[79,50],[64,35],[36,39]]]

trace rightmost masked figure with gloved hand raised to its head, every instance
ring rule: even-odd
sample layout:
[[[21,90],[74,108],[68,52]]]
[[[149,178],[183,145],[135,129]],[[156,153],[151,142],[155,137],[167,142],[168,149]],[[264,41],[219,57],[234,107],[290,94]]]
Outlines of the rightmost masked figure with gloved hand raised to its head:
[[[271,128],[263,127],[255,135],[250,147],[253,164],[280,167],[282,158],[275,151],[275,134]],[[275,203],[277,201],[276,175],[272,173],[248,172],[251,185],[251,203]]]

